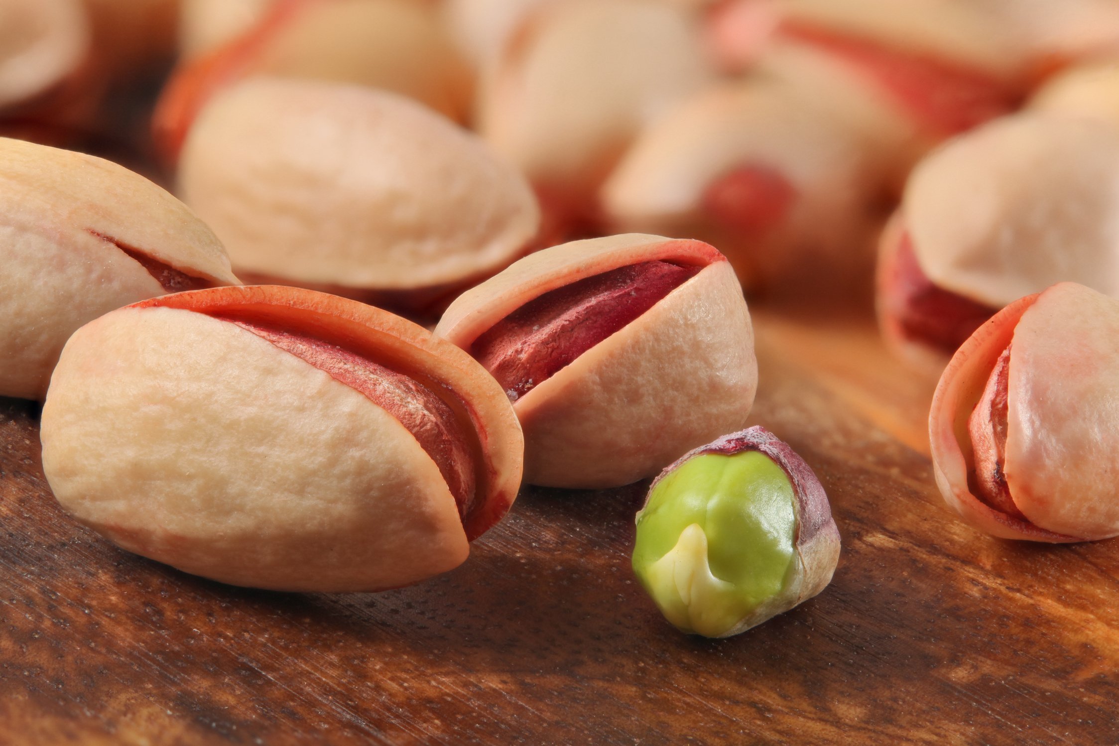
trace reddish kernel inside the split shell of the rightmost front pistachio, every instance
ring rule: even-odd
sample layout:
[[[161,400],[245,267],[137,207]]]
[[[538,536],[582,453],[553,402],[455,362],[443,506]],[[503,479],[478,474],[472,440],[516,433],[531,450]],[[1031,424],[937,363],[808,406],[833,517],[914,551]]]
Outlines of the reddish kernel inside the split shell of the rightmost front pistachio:
[[[975,451],[975,492],[988,506],[1025,520],[1010,497],[1006,483],[1007,394],[1010,380],[1010,348],[995,363],[982,398],[968,418],[968,433]]]

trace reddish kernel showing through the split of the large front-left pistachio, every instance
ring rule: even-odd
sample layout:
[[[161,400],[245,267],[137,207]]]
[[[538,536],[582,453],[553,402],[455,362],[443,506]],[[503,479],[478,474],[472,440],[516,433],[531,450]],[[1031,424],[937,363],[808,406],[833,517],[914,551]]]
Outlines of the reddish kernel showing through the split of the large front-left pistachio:
[[[459,517],[473,507],[476,476],[467,432],[454,410],[419,381],[368,358],[269,324],[215,317],[246,329],[363,394],[393,415],[439,466]]]

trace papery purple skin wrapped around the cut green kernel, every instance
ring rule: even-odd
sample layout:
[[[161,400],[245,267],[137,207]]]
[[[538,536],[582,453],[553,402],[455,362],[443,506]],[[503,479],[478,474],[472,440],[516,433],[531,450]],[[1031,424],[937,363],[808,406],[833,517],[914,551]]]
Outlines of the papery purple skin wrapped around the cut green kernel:
[[[797,558],[800,560],[798,577],[793,588],[791,588],[792,597],[784,606],[792,608],[820,593],[831,582],[831,575],[839,561],[840,540],[839,528],[831,517],[831,506],[820,480],[816,478],[811,466],[788,443],[760,426],[724,435],[707,445],[689,451],[675,463],[666,466],[649,485],[646,504],[652,497],[657,483],[685,462],[708,453],[730,456],[743,451],[758,451],[769,456],[789,475],[789,480],[792,482],[796,497],[793,509],[797,514],[794,542]],[[741,627],[749,629],[756,623],[756,620],[745,620]],[[740,626],[735,626],[724,636],[736,634],[739,631],[741,631]]]

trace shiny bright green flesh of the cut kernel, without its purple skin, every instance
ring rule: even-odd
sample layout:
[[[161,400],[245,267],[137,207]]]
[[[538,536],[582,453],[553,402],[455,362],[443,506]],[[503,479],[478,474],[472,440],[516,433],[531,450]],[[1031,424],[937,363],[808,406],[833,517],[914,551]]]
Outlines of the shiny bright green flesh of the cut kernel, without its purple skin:
[[[722,636],[794,578],[794,499],[784,470],[758,451],[692,459],[638,514],[633,572],[678,629]]]

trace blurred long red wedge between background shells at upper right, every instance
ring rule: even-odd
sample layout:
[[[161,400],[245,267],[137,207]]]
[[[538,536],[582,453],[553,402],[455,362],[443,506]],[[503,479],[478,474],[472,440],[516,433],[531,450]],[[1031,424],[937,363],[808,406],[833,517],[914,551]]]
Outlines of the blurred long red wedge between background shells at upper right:
[[[931,55],[890,49],[809,23],[786,23],[781,32],[858,66],[914,119],[943,134],[970,130],[1018,103],[998,79]]]

